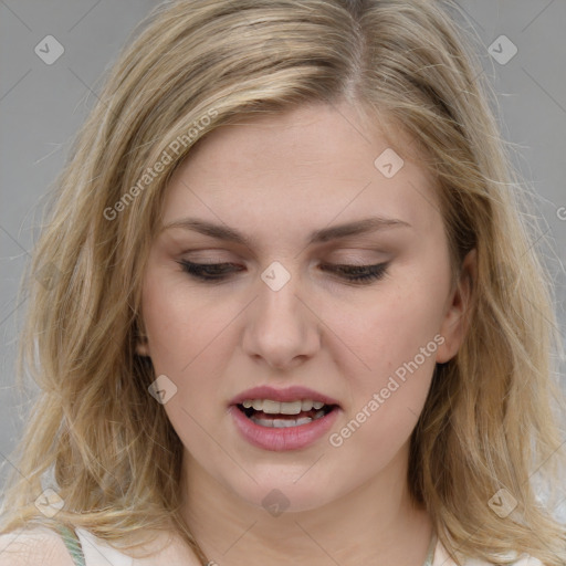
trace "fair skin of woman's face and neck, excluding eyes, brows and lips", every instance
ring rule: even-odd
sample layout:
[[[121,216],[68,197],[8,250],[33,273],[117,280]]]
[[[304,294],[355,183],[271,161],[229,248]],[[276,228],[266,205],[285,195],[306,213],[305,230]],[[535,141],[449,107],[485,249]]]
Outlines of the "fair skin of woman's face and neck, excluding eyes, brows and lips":
[[[182,513],[220,566],[424,560],[432,525],[408,496],[409,437],[434,364],[464,336],[474,255],[453,286],[434,180],[403,155],[410,142],[396,136],[405,165],[386,178],[374,160],[391,143],[375,125],[345,103],[303,106],[214,130],[167,187],[164,226],[190,216],[252,240],[164,230],[143,282],[138,354],[177,387],[164,408],[185,447]],[[410,227],[306,245],[316,229],[374,214]],[[242,271],[208,284],[181,259]],[[273,261],[291,275],[276,292],[260,277]],[[318,268],[385,261],[369,284]],[[339,401],[331,433],[339,431],[436,335],[443,344],[339,448],[325,434],[305,449],[263,450],[227,410],[248,388],[303,385]],[[289,501],[277,516],[262,506],[273,489]]]

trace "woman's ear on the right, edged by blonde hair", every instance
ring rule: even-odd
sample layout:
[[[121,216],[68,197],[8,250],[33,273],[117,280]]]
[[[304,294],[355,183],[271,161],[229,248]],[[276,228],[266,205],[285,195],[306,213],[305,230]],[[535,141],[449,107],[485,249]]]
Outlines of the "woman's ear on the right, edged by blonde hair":
[[[440,335],[444,337],[444,343],[437,350],[437,363],[439,364],[453,358],[464,340],[470,322],[469,314],[476,273],[478,253],[474,248],[465,255],[459,280],[447,302],[447,310],[440,328]]]

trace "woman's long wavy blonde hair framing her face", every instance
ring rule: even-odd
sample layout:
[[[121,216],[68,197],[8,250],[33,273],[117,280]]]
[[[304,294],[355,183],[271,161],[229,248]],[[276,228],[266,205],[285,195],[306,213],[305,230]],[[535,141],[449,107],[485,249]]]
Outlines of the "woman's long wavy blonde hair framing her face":
[[[458,563],[506,564],[510,552],[526,552],[565,564],[566,530],[531,481],[544,471],[556,485],[564,455],[553,412],[560,391],[552,287],[534,252],[537,227],[522,213],[527,191],[472,41],[454,21],[433,0],[154,9],[80,132],[22,281],[18,371],[21,380],[29,367],[42,391],[10,457],[19,472],[4,494],[2,531],[56,520],[116,547],[130,538],[130,548],[142,533],[176,528],[203,559],[179,514],[181,442],[148,394],[150,361],[135,353],[164,188],[222,125],[346,99],[415,139],[438,179],[453,273],[468,251],[478,253],[467,338],[437,366],[411,437],[410,493]],[[64,500],[54,518],[34,505],[49,473]],[[517,502],[505,518],[489,505],[501,489]]]

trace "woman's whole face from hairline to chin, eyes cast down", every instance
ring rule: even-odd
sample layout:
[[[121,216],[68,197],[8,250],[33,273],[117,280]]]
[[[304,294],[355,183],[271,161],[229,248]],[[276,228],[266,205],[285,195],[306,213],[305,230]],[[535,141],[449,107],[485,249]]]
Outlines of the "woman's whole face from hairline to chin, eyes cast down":
[[[217,129],[174,175],[163,226],[177,226],[150,251],[138,353],[166,376],[156,389],[192,481],[300,511],[406,476],[467,296],[408,144],[394,153],[345,104],[304,106]],[[222,265],[205,281],[184,261]]]

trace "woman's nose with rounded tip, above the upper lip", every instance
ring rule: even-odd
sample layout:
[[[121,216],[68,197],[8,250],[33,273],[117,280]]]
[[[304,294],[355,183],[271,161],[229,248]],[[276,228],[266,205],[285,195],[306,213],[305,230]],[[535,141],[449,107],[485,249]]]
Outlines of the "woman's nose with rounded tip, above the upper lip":
[[[247,310],[242,347],[258,361],[285,369],[316,354],[321,347],[322,324],[302,296],[298,276],[292,275],[277,287],[259,281],[259,296]]]

